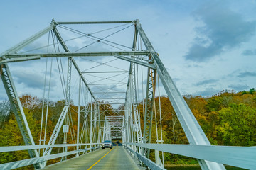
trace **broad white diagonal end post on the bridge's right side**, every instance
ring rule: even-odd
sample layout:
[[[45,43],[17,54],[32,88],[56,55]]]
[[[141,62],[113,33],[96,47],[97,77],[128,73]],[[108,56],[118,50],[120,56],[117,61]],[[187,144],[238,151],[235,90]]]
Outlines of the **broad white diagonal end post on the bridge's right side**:
[[[164,85],[164,89],[166,90],[166,94],[171,101],[171,104],[176,112],[179,122],[188,138],[188,141],[193,145],[210,145],[208,138],[203,132],[201,126],[198,124],[196,118],[193,116],[190,108],[186,104],[186,101],[181,96],[180,92],[176,88],[174,81],[172,81],[169,73],[167,72],[164,64],[161,62],[158,54],[154,50],[154,47],[151,45],[151,42],[144,33],[141,24],[137,20],[135,23],[137,30],[139,31],[139,35],[141,35],[144,45],[146,46],[146,50],[149,50],[151,53],[151,57],[154,60],[154,64],[156,64],[156,69],[161,79],[161,83]],[[223,164],[218,164],[215,162],[207,162],[202,159],[198,159],[198,162],[201,165],[202,169],[225,169]]]

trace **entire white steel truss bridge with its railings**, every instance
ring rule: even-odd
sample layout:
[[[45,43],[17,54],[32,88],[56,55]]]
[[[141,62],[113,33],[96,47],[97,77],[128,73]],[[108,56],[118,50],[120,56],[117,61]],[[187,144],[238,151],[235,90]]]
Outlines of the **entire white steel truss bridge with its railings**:
[[[50,26],[1,53],[0,57],[1,81],[25,143],[23,146],[0,147],[0,152],[27,150],[31,157],[0,164],[0,169],[32,164],[35,169],[42,169],[50,159],[61,158],[61,162],[65,162],[69,155],[80,157],[94,152],[100,149],[103,140],[112,139],[122,140],[124,148],[150,169],[164,169],[163,152],[196,158],[201,169],[225,169],[223,164],[256,168],[255,147],[210,145],[139,20],[53,20]],[[11,70],[15,69],[12,64],[17,62],[22,62],[25,68],[35,63],[36,71],[45,70],[39,141],[33,140],[11,75]],[[26,63],[30,65],[26,66]],[[44,63],[46,67],[41,67]],[[160,118],[156,118],[156,103],[161,104],[156,100],[156,96],[161,95],[160,89],[164,89],[163,94],[169,97],[189,145],[164,144],[161,107],[157,111]],[[51,98],[58,99],[50,95],[53,91],[63,94],[65,105],[58,113],[60,116],[48,139],[48,104]],[[78,106],[78,123],[73,130],[73,143],[67,143],[68,132],[73,127],[70,123],[73,102]],[[153,119],[158,120],[155,126]],[[160,130],[160,134],[156,133],[156,141],[151,140],[153,127]],[[61,130],[63,143],[57,143]],[[63,149],[52,154],[55,148]],[[155,162],[149,159],[151,151],[155,151]]]

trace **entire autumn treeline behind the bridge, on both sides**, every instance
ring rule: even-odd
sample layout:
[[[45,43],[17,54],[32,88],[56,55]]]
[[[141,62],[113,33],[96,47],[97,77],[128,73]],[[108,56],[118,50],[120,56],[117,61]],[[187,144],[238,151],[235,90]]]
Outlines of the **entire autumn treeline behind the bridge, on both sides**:
[[[240,91],[238,93],[235,93],[235,91],[220,91],[220,93],[210,97],[191,95],[183,97],[212,145],[256,145],[256,91],[254,88],[249,91]],[[20,99],[28,120],[28,125],[31,128],[33,140],[36,142],[36,145],[38,145],[41,130],[42,101],[41,99],[30,95],[23,95]],[[155,98],[155,101],[156,116],[159,121],[159,98]],[[181,124],[178,122],[178,118],[171,106],[169,98],[167,96],[161,96],[160,101],[164,143],[188,144],[186,135],[181,128]],[[46,142],[50,139],[51,132],[53,132],[53,129],[55,128],[55,124],[58,121],[64,105],[65,101],[49,101]],[[44,109],[46,111],[46,106]],[[102,101],[100,110],[111,109],[112,106]],[[77,111],[78,106],[71,103],[69,121],[73,122],[74,128],[73,131],[70,130],[68,133],[68,143],[73,143],[75,140],[78,118]],[[143,130],[142,105],[140,106],[140,112]],[[110,114],[114,113],[102,113],[101,119],[103,120],[105,115]],[[122,115],[123,113],[119,114]],[[44,118],[45,116],[46,115],[44,115]],[[80,130],[82,130],[82,121],[83,118],[80,120]],[[160,140],[159,122],[157,130],[159,134],[158,140]],[[14,113],[11,113],[8,101],[2,101],[0,103],[0,134],[0,146],[24,145],[21,132],[19,131],[18,124],[16,123],[16,118]],[[156,140],[156,125],[155,122],[153,122],[151,142],[156,143]],[[56,143],[63,143],[62,132],[60,132]],[[63,150],[60,150],[60,148],[53,149],[53,154],[58,152],[63,152]],[[1,164],[28,158],[29,155],[26,151],[0,153]],[[154,153],[151,153],[151,158],[154,159]],[[164,154],[164,159],[166,164],[197,163],[195,159],[168,153]],[[60,161],[60,159],[55,159],[50,161],[49,164],[58,161]],[[30,166],[27,169],[29,168],[33,169],[33,166]]]

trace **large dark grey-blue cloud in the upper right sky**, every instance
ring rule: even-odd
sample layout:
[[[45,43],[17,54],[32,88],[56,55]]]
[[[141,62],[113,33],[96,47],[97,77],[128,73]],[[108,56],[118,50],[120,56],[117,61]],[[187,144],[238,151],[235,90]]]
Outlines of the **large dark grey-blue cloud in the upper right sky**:
[[[203,22],[203,26],[196,28],[198,35],[185,55],[187,60],[206,62],[247,42],[255,33],[256,21],[246,21],[222,1],[207,3],[193,15]]]

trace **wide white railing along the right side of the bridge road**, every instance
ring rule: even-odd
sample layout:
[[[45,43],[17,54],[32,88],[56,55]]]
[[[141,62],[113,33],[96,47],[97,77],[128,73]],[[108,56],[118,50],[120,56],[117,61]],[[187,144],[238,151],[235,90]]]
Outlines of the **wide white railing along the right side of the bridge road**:
[[[244,169],[255,169],[256,167],[256,147],[233,147],[216,145],[176,145],[176,144],[142,144],[126,143],[127,149],[131,151],[129,145],[154,149],[172,154],[180,154],[186,157],[204,159],[209,162],[218,162],[230,166]],[[138,157],[139,153],[132,153]],[[142,162],[146,157],[139,154],[138,159]],[[146,160],[146,159],[145,159]],[[148,160],[146,160],[148,162]],[[151,164],[151,163],[150,163]],[[149,164],[149,165],[150,165]],[[152,165],[151,165],[152,166]],[[155,167],[155,165],[153,165]],[[150,167],[149,167],[150,168]]]

